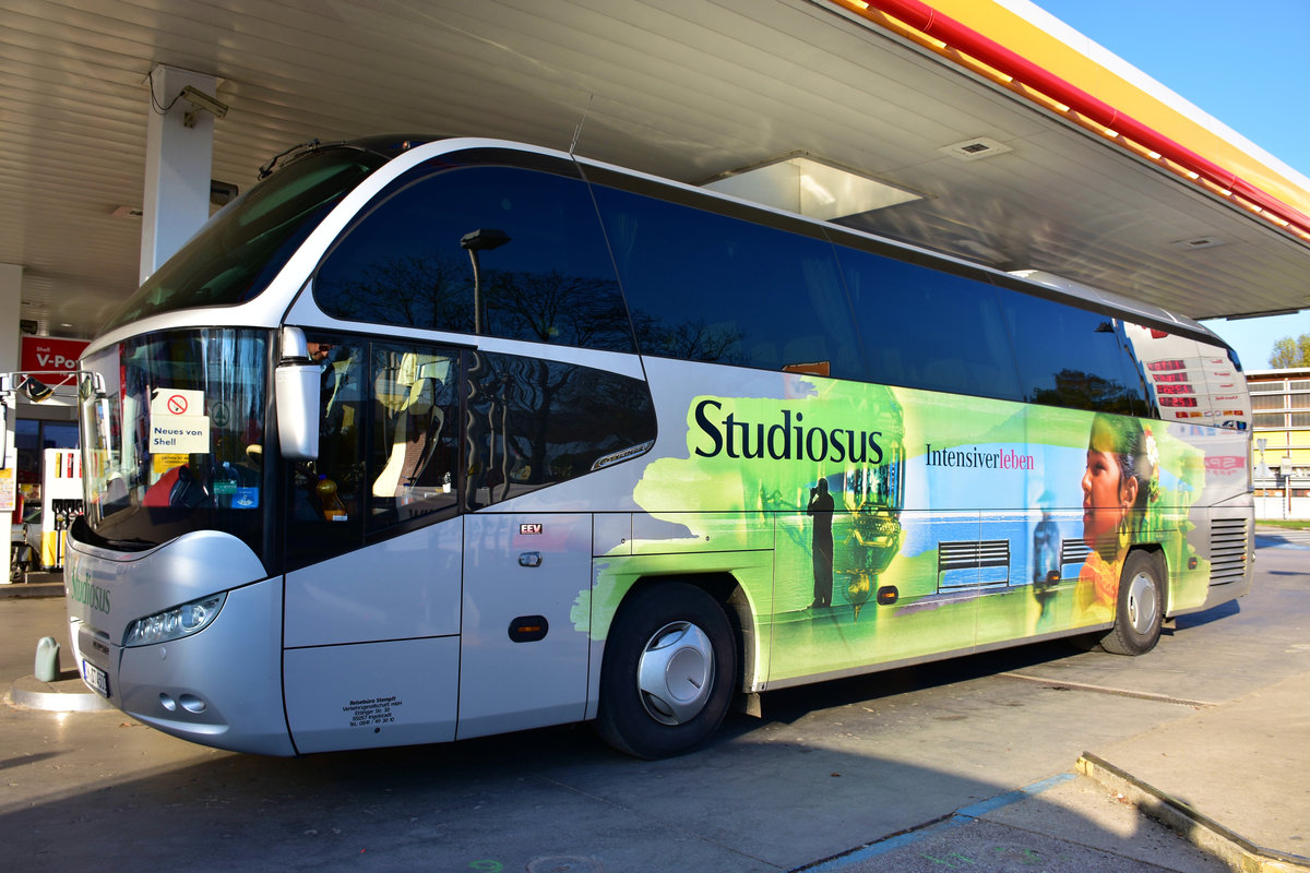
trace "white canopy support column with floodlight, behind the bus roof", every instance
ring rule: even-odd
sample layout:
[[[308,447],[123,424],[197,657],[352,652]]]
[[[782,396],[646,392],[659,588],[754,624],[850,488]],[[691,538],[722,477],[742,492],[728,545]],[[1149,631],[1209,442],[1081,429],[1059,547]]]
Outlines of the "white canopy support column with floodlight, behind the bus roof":
[[[149,123],[145,130],[145,203],[141,212],[140,280],[145,281],[210,217],[214,164],[214,115],[195,113],[179,97],[187,85],[214,97],[217,79],[174,67],[151,73]],[[165,107],[168,111],[164,111]]]

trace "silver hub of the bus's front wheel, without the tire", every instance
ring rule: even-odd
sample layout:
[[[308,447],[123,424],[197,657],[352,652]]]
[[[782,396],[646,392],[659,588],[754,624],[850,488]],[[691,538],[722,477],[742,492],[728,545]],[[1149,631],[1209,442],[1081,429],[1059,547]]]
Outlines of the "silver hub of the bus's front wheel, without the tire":
[[[690,622],[672,622],[646,643],[637,665],[642,705],[655,721],[686,724],[705,708],[714,685],[714,647]]]

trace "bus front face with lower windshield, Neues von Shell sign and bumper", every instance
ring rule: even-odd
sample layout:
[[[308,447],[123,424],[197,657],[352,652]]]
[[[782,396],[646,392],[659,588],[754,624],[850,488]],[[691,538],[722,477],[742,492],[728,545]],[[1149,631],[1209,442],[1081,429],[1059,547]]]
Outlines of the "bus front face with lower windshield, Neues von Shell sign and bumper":
[[[92,688],[169,733],[291,754],[282,582],[265,569],[276,490],[263,466],[271,339],[179,329],[85,360],[100,377],[81,393],[89,500],[66,573]]]

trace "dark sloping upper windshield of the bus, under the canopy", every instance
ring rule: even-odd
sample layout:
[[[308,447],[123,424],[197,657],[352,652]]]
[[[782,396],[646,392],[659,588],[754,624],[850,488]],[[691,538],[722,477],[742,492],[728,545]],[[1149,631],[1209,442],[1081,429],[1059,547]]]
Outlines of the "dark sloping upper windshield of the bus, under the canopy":
[[[145,280],[105,330],[190,306],[233,306],[261,291],[328,211],[386,157],[362,148],[307,154],[216,215]]]

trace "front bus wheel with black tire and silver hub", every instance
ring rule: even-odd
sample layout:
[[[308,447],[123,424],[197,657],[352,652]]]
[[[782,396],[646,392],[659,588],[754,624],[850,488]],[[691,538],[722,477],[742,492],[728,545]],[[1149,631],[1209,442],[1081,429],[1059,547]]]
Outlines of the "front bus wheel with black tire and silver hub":
[[[621,607],[605,640],[596,729],[635,758],[685,754],[728,711],[736,645],[723,607],[685,582],[656,582]]]

